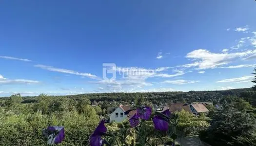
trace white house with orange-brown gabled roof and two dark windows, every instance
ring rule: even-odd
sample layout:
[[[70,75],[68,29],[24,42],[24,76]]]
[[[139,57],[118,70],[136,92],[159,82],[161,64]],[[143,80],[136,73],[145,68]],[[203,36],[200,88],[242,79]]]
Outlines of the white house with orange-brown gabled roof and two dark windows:
[[[130,110],[129,106],[123,106],[123,105],[118,106],[109,115],[109,122],[116,122],[116,123],[122,122],[124,119],[127,118],[127,116],[129,117],[132,115],[132,111],[128,115],[125,115],[124,112],[127,110]]]

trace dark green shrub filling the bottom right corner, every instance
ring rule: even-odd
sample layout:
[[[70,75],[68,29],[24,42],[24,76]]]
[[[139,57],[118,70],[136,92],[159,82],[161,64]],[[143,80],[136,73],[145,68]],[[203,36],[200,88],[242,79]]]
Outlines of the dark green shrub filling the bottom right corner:
[[[240,112],[233,105],[225,105],[222,110],[215,111],[211,126],[200,133],[200,139],[212,146],[256,146],[253,144],[256,139],[255,124],[252,113]]]

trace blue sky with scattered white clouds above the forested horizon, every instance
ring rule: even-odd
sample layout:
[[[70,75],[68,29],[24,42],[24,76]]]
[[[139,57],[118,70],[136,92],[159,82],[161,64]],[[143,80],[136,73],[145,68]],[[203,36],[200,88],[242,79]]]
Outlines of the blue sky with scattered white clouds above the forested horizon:
[[[4,0],[0,10],[0,96],[253,86],[255,0]]]

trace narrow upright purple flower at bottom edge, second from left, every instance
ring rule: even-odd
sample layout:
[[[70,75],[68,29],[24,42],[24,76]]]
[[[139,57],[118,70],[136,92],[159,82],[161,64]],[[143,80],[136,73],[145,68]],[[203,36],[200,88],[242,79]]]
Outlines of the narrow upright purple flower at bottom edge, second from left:
[[[100,121],[98,127],[94,130],[93,134],[90,137],[90,146],[102,146],[103,139],[101,135],[107,132],[107,128],[105,127],[104,120]]]

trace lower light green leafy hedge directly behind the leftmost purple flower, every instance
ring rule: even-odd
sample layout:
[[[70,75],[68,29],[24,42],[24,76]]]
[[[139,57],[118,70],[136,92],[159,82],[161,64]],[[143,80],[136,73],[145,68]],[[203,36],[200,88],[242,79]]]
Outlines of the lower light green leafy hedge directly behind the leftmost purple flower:
[[[16,115],[11,111],[0,115],[0,146],[45,146],[41,130],[50,125],[65,128],[65,140],[60,146],[89,146],[89,136],[99,121],[97,115],[77,111],[61,116],[41,112]]]

